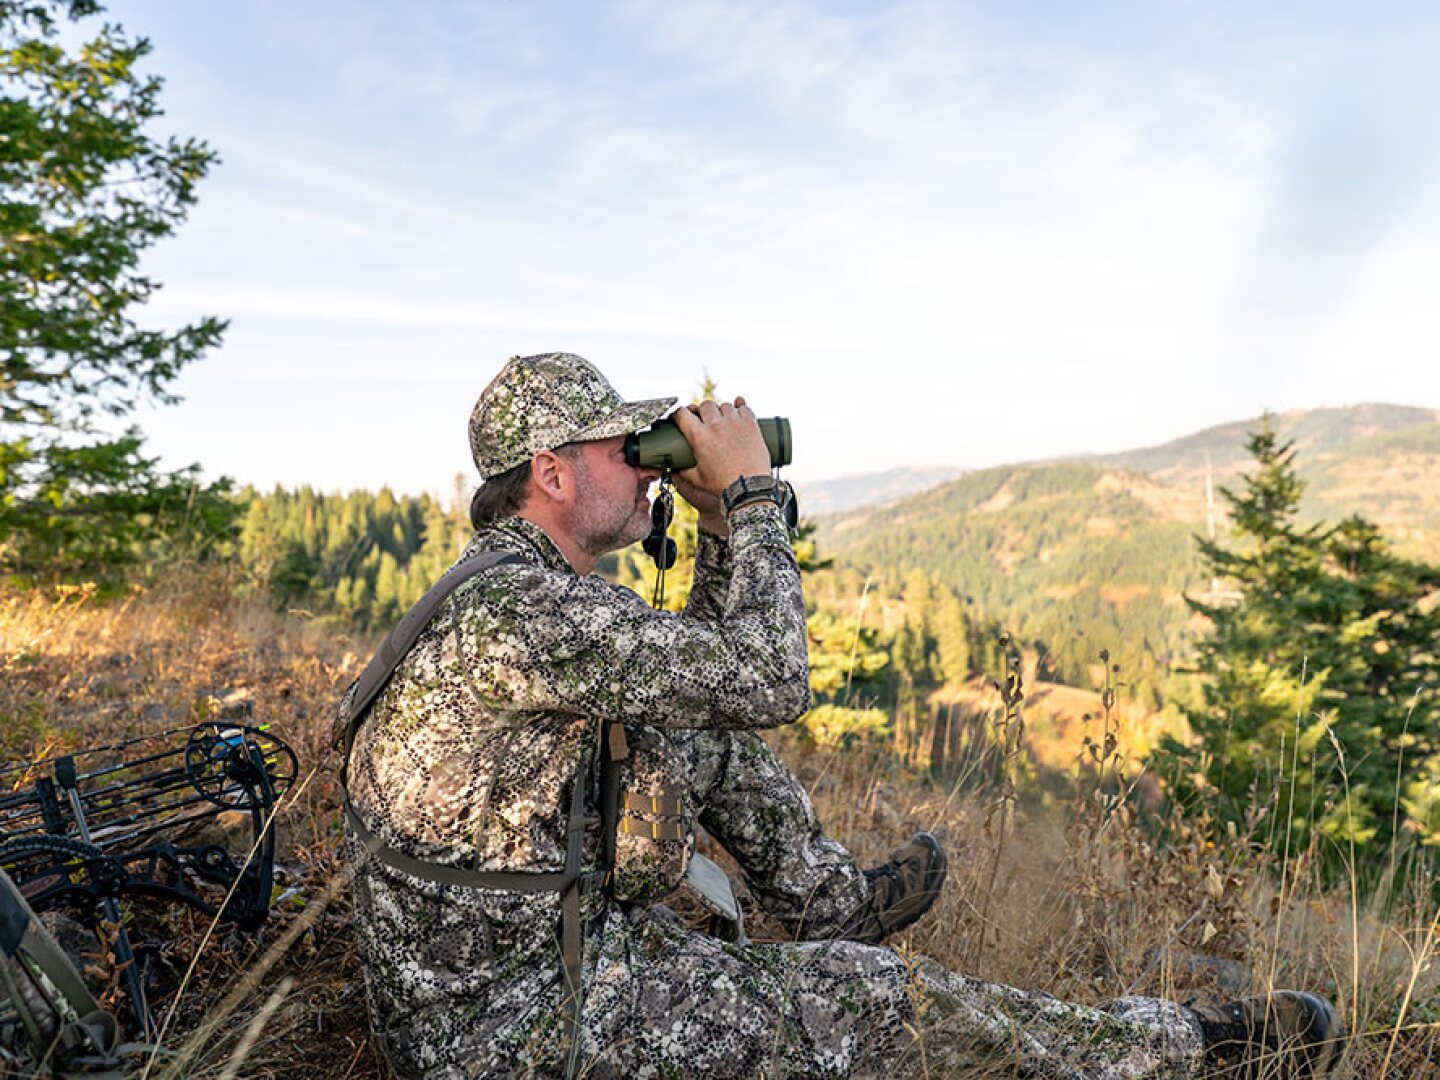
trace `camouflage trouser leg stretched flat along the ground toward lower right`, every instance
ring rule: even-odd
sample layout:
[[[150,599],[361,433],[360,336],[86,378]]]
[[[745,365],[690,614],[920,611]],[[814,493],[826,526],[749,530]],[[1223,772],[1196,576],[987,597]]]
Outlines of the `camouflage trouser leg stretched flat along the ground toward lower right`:
[[[618,912],[598,945],[588,1077],[1201,1074],[1194,1015],[1152,998],[1073,1005],[855,942],[729,945],[657,907]]]

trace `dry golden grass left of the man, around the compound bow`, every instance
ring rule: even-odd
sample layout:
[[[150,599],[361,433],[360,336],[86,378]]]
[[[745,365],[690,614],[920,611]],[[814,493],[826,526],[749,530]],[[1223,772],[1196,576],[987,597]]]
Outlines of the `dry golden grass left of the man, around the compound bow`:
[[[354,677],[356,654],[369,644],[236,600],[235,586],[215,572],[107,603],[84,592],[0,598],[4,756],[23,760],[194,723],[213,714],[217,697],[251,701],[256,721],[300,756],[300,782],[276,818],[276,877],[300,891],[259,933],[210,936],[183,992],[209,920],[170,910],[143,927],[166,943],[153,1004],[168,1025],[166,1045],[181,1050],[150,1074],[225,1076],[265,1008],[268,1020],[249,1032],[243,1067],[232,1076],[382,1076],[366,1035],[347,897],[340,890],[321,901],[343,873],[325,729],[337,687]],[[289,943],[264,963],[276,942]],[[232,995],[236,988],[246,992]],[[222,1004],[226,1015],[217,1015]]]

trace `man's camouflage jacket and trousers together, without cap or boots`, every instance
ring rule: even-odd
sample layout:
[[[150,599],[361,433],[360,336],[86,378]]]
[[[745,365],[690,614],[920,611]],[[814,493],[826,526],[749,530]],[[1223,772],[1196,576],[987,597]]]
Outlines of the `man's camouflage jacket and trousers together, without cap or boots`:
[[[530,523],[478,533],[462,559],[503,550],[526,564],[461,586],[376,700],[350,769],[366,825],[431,863],[553,873],[585,779],[593,870],[596,719],[625,721],[628,791],[678,796],[681,838],[621,837],[615,899],[585,896],[582,1076],[969,1076],[981,1061],[1015,1076],[1195,1074],[1200,1030],[1179,1007],[1081,1008],[825,940],[868,883],[747,730],[809,703],[799,573],[772,504],[730,526],[729,541],[701,533],[683,615],[577,576]],[[724,943],[652,903],[680,880],[697,822],[799,940]],[[395,1070],[563,1074],[559,896],[442,886],[350,845],[372,1017]]]

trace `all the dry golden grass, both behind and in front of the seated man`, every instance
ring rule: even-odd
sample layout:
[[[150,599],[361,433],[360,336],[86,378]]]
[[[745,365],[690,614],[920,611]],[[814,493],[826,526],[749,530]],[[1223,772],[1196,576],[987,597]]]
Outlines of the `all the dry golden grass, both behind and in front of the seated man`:
[[[58,746],[204,719],[217,691],[242,691],[301,759],[298,795],[278,819],[295,901],[258,935],[219,933],[179,989],[206,926],[166,916],[157,1012],[179,1061],[151,1076],[373,1077],[364,995],[338,858],[337,788],[325,729],[340,688],[369,655],[297,615],[236,599],[223,573],[190,573],[101,603],[0,596],[0,734],[23,759]],[[357,657],[359,654],[359,657]],[[966,775],[950,786],[881,753],[821,752],[773,736],[828,831],[861,863],[914,829],[940,835],[952,877],[903,945],[968,973],[1060,998],[1125,994],[1224,998],[1266,986],[1329,994],[1362,1034],[1359,1077],[1440,1071],[1436,881],[1391,878],[1356,907],[1318,884],[1315,852],[1217,847],[1204,822],[1136,818],[1123,746],[1097,747],[1061,814],[1004,798]],[[300,789],[301,785],[297,785]],[[998,802],[1004,804],[998,806]],[[331,896],[328,901],[327,896]],[[757,937],[776,927],[757,920]],[[1398,1030],[1397,1030],[1398,1022]]]

